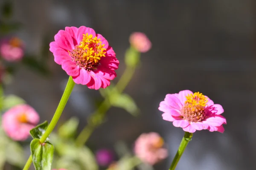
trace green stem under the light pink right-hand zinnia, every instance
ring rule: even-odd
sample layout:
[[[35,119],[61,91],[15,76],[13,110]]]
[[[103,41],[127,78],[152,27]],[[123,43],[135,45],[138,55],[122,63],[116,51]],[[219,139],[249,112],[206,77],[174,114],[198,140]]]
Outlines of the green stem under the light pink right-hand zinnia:
[[[169,170],[175,170],[175,167],[177,166],[180,157],[182,156],[184,150],[186,149],[186,146],[188,145],[189,141],[191,141],[193,136],[193,133],[189,133],[189,132],[185,132],[184,137],[182,138],[182,141],[180,142],[180,147],[174,157],[174,159],[172,160],[172,164],[171,167],[169,168]]]

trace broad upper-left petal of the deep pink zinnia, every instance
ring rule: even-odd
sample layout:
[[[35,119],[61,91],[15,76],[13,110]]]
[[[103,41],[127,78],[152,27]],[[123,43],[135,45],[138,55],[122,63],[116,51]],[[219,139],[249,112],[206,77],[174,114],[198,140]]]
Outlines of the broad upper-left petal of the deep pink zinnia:
[[[74,49],[73,38],[67,31],[58,31],[58,33],[54,36],[54,40],[57,42],[58,46],[65,50],[72,51]]]

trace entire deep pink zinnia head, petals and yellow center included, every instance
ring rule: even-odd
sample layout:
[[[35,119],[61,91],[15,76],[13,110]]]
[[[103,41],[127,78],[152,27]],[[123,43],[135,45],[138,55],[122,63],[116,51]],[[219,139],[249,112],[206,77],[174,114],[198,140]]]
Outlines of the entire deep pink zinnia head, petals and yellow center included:
[[[77,84],[98,90],[108,87],[110,80],[116,77],[115,70],[119,66],[116,53],[92,28],[66,27],[65,31],[58,31],[54,40],[50,43],[54,61]]]

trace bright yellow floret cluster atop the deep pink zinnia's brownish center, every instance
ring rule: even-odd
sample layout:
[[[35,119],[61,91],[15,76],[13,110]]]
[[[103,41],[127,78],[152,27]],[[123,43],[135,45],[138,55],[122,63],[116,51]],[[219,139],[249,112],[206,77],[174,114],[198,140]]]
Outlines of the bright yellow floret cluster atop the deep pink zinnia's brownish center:
[[[85,51],[83,57],[87,61],[90,60],[91,62],[94,61],[97,63],[102,56],[105,57],[106,48],[103,48],[105,44],[102,44],[100,40],[101,39],[98,39],[97,37],[93,38],[92,34],[83,34],[83,40],[80,42],[79,48],[82,48]]]

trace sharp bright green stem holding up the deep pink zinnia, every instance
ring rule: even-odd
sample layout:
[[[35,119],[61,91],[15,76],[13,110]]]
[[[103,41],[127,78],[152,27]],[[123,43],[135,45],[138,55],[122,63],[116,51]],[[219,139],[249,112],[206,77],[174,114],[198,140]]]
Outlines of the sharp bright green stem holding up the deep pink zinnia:
[[[65,108],[65,105],[67,104],[67,100],[70,97],[70,94],[74,88],[75,82],[73,81],[73,78],[70,76],[66,85],[66,88],[64,90],[64,93],[61,97],[61,100],[58,104],[58,107],[52,117],[52,121],[50,122],[49,126],[47,127],[44,135],[40,138],[40,142],[44,143],[44,141],[47,139],[47,137],[49,136],[49,134],[52,132],[52,130],[54,129],[54,127],[56,126],[58,119],[61,117],[61,113]],[[30,155],[28,161],[26,162],[23,170],[28,170],[30,165],[32,163],[32,156]]]

